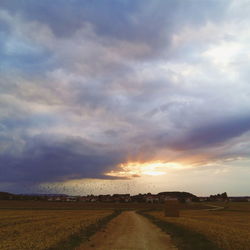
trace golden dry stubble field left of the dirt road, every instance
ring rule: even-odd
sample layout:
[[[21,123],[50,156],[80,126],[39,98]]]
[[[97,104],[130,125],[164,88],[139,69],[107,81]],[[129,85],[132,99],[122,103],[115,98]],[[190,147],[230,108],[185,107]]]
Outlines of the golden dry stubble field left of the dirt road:
[[[1,210],[0,249],[50,248],[111,213],[111,210]]]

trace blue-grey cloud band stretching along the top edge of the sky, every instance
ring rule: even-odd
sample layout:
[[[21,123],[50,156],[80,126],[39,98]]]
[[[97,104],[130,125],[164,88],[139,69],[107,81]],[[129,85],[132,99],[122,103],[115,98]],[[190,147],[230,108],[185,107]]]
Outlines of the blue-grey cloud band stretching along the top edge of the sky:
[[[84,25],[91,24],[96,34],[110,38],[107,41],[145,42],[153,53],[159,53],[182,26],[199,26],[207,20],[218,22],[228,2],[5,0],[1,5],[13,13],[22,13],[26,19],[49,25],[59,37],[72,36]]]

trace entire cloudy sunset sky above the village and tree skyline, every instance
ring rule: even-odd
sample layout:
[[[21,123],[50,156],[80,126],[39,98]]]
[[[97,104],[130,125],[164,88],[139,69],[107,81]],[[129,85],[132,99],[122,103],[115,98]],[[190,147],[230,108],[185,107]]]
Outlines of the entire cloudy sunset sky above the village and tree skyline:
[[[0,190],[250,195],[249,0],[1,0]]]

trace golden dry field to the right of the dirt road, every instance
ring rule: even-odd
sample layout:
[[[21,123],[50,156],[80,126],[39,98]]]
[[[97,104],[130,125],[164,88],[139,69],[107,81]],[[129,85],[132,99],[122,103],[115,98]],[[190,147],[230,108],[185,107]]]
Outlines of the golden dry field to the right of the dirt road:
[[[220,211],[182,210],[179,218],[165,217],[162,211],[148,214],[205,235],[218,247],[228,250],[250,249],[250,203],[215,203]]]

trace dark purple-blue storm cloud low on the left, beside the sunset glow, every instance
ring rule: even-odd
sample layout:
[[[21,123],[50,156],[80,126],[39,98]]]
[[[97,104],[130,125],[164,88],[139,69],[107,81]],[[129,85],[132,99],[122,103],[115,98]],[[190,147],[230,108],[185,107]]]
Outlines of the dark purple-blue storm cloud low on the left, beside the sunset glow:
[[[0,154],[0,181],[41,183],[108,178],[104,173],[123,160],[119,152],[108,151],[104,145],[80,138],[51,138],[24,138],[21,154],[9,154],[11,150]]]

